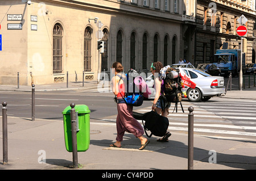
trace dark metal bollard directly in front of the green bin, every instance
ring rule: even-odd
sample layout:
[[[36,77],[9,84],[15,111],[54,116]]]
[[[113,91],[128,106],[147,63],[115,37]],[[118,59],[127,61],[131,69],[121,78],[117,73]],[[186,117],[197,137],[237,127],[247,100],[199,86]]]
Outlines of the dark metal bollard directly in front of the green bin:
[[[77,138],[76,138],[76,104],[71,103],[71,129],[72,129],[72,153],[73,153],[73,168],[78,168],[78,158],[77,158]]]

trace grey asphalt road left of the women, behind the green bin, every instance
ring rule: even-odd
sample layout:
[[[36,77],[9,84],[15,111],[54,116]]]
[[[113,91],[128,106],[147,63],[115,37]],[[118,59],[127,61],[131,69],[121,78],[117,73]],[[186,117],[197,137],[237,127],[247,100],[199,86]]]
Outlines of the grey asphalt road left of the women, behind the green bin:
[[[35,118],[63,120],[62,111],[71,103],[85,104],[90,110],[90,119],[101,120],[117,114],[117,106],[110,93],[89,93],[77,91],[35,92]],[[32,117],[31,92],[0,92],[0,101],[7,102],[8,116]],[[144,100],[143,106],[150,106],[150,100]],[[134,108],[136,110],[136,107]],[[1,111],[2,113],[2,111]]]

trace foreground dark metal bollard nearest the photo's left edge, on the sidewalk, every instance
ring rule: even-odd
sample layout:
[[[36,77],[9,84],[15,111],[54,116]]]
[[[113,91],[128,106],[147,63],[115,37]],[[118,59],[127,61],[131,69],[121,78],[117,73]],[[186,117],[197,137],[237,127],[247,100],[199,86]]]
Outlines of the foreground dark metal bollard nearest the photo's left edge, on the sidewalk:
[[[8,143],[7,143],[7,103],[2,102],[2,119],[3,119],[3,165],[8,163]]]

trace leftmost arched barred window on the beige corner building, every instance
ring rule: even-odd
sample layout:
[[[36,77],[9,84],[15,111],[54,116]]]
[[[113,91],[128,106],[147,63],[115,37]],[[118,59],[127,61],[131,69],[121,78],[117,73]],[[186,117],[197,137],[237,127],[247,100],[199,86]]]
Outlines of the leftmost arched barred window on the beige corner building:
[[[53,74],[63,73],[63,29],[59,23],[53,27]]]

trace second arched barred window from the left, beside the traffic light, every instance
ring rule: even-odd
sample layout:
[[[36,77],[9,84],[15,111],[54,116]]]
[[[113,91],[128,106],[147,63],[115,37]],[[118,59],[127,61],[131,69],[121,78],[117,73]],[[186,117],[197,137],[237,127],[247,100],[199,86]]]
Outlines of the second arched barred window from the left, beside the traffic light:
[[[92,71],[92,32],[90,27],[84,31],[84,71]]]

